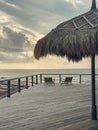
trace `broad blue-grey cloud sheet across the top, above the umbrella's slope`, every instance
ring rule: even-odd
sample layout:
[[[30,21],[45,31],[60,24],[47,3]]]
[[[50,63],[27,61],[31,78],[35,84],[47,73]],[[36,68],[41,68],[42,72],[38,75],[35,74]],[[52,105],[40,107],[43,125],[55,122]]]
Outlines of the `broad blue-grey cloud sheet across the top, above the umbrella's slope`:
[[[85,3],[84,0],[0,0],[0,10],[10,16],[11,22],[46,34],[59,23],[84,12],[89,1],[86,8]]]

